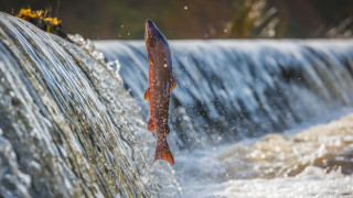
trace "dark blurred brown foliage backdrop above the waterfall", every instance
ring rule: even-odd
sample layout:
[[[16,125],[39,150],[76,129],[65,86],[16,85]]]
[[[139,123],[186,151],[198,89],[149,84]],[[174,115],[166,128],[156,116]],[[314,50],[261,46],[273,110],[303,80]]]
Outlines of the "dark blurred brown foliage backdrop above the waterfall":
[[[353,0],[0,0],[0,10],[51,10],[68,33],[142,40],[146,19],[176,38],[352,37]]]

